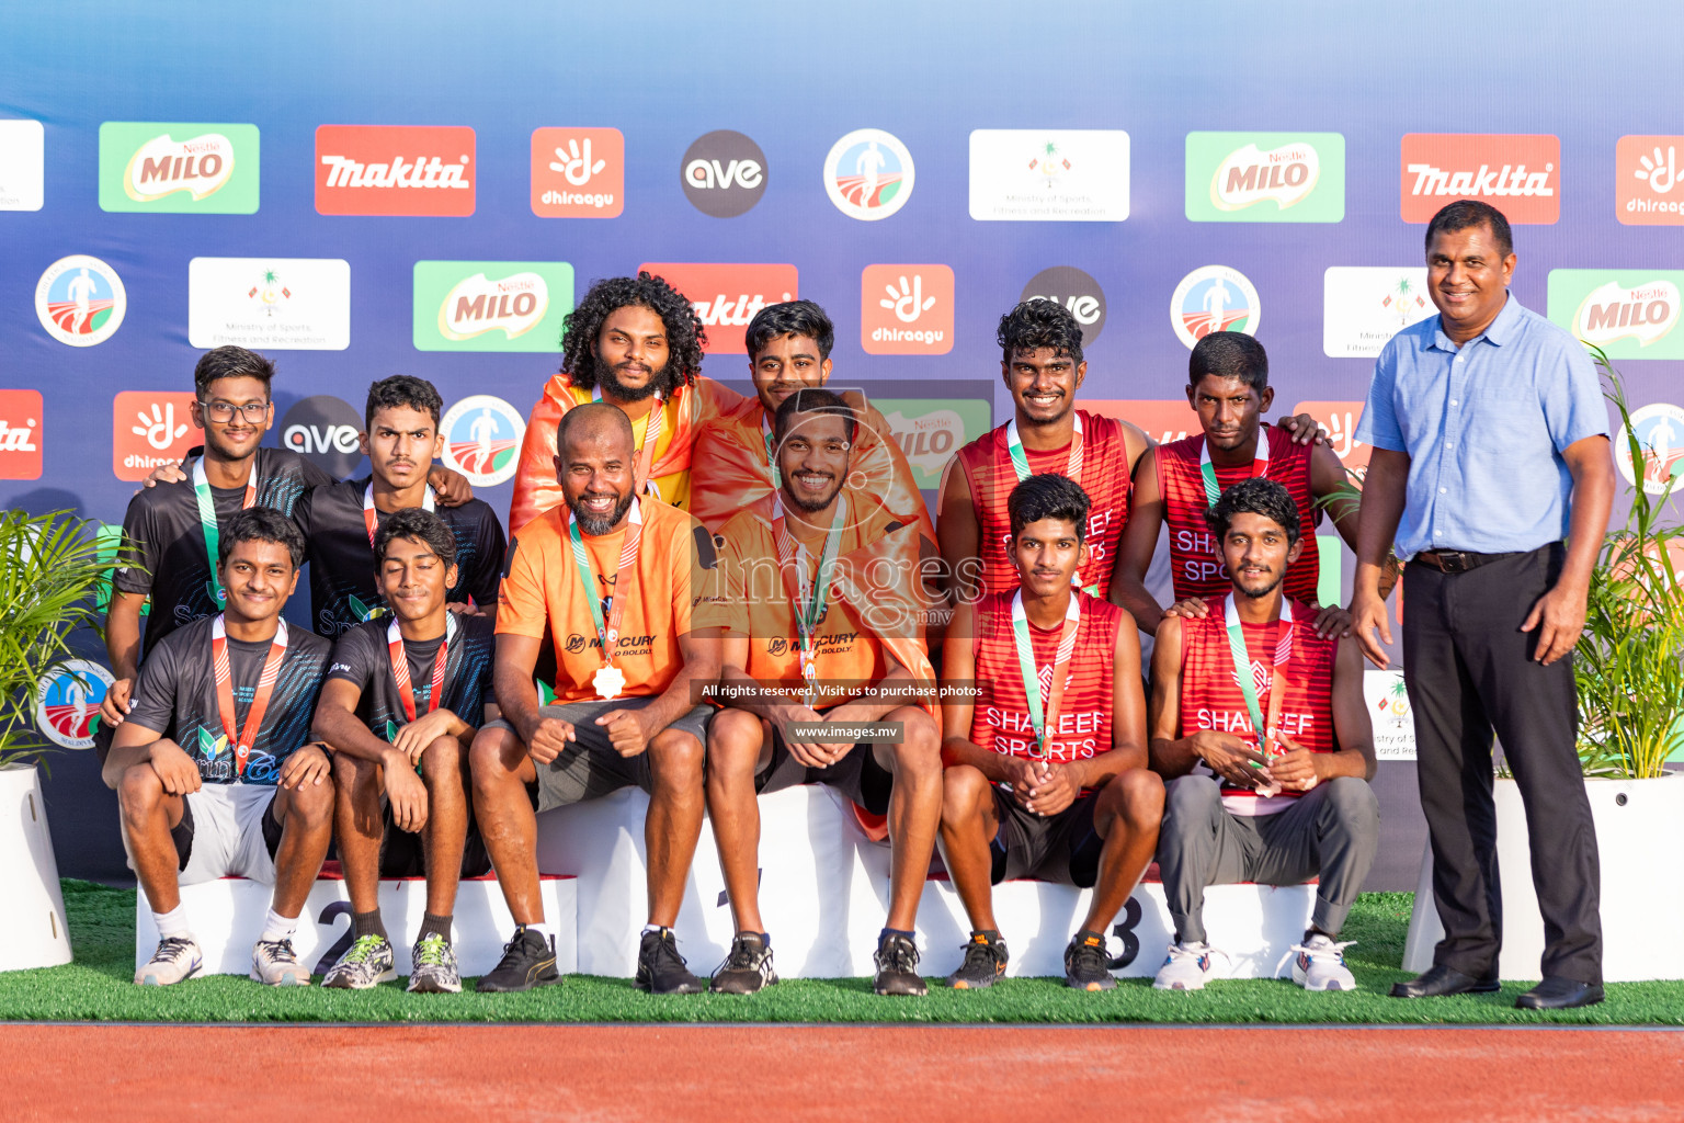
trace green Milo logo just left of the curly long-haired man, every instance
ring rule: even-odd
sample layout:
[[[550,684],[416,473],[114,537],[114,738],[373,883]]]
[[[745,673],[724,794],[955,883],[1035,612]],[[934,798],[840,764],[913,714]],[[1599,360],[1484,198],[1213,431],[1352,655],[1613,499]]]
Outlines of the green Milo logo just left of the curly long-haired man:
[[[418,261],[416,350],[554,352],[573,311],[566,261]]]

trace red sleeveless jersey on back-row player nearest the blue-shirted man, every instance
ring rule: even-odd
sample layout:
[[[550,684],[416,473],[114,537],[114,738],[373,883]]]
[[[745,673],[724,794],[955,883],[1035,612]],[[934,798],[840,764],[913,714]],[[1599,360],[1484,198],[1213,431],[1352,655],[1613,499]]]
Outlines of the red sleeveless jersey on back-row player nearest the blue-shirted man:
[[[1295,601],[1317,603],[1317,584],[1322,564],[1315,549],[1315,524],[1322,512],[1310,490],[1310,444],[1293,444],[1292,434],[1271,424],[1263,426],[1260,439],[1268,441],[1268,470],[1265,478],[1275,480],[1292,492],[1298,505],[1298,534],[1303,549],[1287,569],[1287,596]],[[1204,475],[1199,471],[1199,453],[1204,434],[1159,444],[1159,492],[1164,495],[1164,522],[1169,524],[1170,579],[1175,583],[1175,599],[1226,596],[1233,589],[1223,552],[1204,522],[1207,510]],[[1218,488],[1229,488],[1251,478],[1251,465],[1214,465]]]

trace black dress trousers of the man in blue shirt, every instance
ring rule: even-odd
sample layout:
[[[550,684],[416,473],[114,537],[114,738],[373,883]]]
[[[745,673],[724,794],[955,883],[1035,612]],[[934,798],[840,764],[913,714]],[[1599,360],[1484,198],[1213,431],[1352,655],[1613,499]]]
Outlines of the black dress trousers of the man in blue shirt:
[[[1497,973],[1502,891],[1492,803],[1492,731],[1521,788],[1532,884],[1544,918],[1546,977],[1601,982],[1601,869],[1575,751],[1573,657],[1532,660],[1521,631],[1561,571],[1561,544],[1447,574],[1410,566],[1403,667],[1415,711],[1421,810],[1433,845],[1433,901],[1445,938],[1433,961]]]

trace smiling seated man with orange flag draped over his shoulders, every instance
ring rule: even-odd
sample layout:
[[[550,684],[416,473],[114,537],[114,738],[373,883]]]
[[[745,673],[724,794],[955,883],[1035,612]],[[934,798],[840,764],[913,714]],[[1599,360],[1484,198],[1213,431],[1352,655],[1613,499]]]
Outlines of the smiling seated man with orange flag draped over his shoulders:
[[[753,993],[778,982],[759,916],[756,796],[797,785],[835,788],[893,838],[889,918],[877,938],[879,995],[921,995],[913,924],[941,817],[940,734],[928,709],[893,697],[935,675],[919,635],[936,601],[919,584],[919,529],[871,493],[847,490],[859,433],[837,394],[803,389],[773,421],[778,505],[744,510],[721,537],[721,596],[731,615],[721,687],[733,699],[707,734],[707,813],[736,938],[712,990]],[[891,697],[884,697],[889,694]],[[901,722],[899,742],[857,742],[825,727]]]

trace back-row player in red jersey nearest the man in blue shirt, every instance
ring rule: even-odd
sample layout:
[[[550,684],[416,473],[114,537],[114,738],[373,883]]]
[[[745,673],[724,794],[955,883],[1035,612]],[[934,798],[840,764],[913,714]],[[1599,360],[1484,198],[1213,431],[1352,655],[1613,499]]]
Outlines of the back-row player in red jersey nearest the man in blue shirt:
[[[1214,599],[1228,593],[1228,569],[1204,512],[1228,487],[1253,476],[1285,485],[1298,505],[1302,554],[1287,571],[1287,596],[1310,606],[1320,604],[1317,584],[1320,562],[1315,525],[1322,519],[1317,500],[1334,495],[1346,483],[1346,468],[1322,441],[1308,416],[1293,418],[1287,428],[1263,424],[1275,401],[1268,384],[1268,354],[1241,332],[1211,332],[1187,360],[1187,402],[1199,414],[1202,433],[1148,450],[1135,471],[1135,505],[1120,546],[1122,559],[1111,574],[1111,603],[1123,604],[1143,631],[1155,631],[1164,609],[1147,591],[1147,567],[1157,549],[1159,527],[1169,524],[1170,581],[1175,599]],[[1302,436],[1300,436],[1302,434]],[[1310,438],[1314,443],[1303,443]],[[1356,503],[1334,503],[1334,527],[1356,549]],[[1386,586],[1388,591],[1391,586]],[[1187,604],[1179,615],[1201,615],[1204,604]],[[1172,609],[1177,611],[1177,609]],[[1334,625],[1339,625],[1335,628]],[[1344,626],[1344,613],[1327,609],[1315,630],[1332,635]]]

